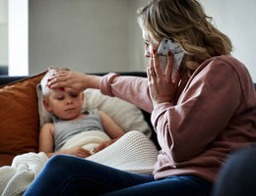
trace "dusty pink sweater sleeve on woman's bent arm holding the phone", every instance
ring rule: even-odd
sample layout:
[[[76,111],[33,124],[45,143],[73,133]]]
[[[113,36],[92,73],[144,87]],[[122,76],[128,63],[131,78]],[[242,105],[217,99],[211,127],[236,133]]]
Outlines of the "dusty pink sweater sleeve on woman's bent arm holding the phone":
[[[162,152],[174,163],[198,156],[224,130],[240,95],[236,72],[222,61],[194,73],[176,105],[162,103],[152,113]]]

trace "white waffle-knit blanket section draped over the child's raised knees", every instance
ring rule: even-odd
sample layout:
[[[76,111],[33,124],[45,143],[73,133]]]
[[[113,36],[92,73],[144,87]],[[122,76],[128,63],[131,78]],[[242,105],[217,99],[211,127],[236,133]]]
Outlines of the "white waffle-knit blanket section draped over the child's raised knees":
[[[152,174],[158,155],[153,141],[142,132],[132,130],[87,159],[126,172]]]

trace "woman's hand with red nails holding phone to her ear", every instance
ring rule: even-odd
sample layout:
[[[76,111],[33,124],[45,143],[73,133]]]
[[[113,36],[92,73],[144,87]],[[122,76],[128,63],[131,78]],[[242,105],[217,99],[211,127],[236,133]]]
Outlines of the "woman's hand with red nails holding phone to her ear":
[[[165,73],[161,72],[160,63],[156,52],[152,55],[147,73],[150,95],[154,107],[163,102],[173,102],[178,86],[178,81],[180,79],[180,73],[177,72],[174,76],[174,79],[172,80],[172,69],[173,56],[171,52],[168,52],[167,55],[167,66]]]

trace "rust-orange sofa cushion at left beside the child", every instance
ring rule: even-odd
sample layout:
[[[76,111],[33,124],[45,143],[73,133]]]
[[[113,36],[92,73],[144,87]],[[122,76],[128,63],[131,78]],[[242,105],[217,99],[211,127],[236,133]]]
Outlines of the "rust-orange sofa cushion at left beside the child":
[[[37,152],[39,119],[36,84],[44,73],[0,87],[0,167],[13,157]]]

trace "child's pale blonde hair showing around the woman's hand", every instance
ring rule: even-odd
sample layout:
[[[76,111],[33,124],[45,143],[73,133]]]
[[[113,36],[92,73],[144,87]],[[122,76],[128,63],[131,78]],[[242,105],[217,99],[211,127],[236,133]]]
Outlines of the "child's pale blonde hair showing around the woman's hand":
[[[48,68],[48,72],[44,74],[44,76],[41,78],[41,81],[40,81],[41,93],[43,96],[47,96],[50,92],[50,89],[48,87],[48,79],[52,76],[52,74],[57,73],[58,71],[67,71],[67,70],[69,69],[54,68],[54,67]]]

